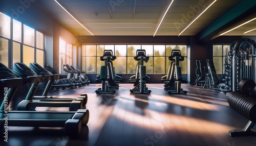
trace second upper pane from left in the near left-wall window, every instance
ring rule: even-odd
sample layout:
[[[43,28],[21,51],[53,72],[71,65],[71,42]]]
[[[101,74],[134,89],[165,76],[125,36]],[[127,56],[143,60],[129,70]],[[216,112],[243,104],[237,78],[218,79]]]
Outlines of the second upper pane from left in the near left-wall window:
[[[12,38],[17,42],[22,42],[22,23],[12,20]]]

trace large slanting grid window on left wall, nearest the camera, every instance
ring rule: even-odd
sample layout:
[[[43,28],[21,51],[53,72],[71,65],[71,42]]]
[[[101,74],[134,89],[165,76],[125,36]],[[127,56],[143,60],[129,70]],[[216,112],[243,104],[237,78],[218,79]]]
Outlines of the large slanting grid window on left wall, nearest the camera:
[[[0,62],[44,66],[44,54],[44,34],[0,12]]]

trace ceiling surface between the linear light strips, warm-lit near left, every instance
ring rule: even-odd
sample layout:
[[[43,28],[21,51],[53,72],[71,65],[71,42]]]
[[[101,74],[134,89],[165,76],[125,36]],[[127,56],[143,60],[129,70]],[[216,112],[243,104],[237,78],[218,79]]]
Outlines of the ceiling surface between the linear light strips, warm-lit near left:
[[[94,35],[154,35],[164,10],[171,0],[100,1],[59,0],[78,21]],[[181,35],[196,35],[242,0],[218,0]],[[115,3],[113,3],[115,2]],[[135,3],[136,2],[136,3]],[[179,35],[210,3],[200,0],[175,0],[162,21],[156,35]],[[91,35],[53,0],[37,0],[33,3],[45,11],[61,26],[74,35]],[[243,28],[225,35],[244,35],[251,22]],[[254,31],[255,32],[255,31]],[[253,35],[254,32],[246,35]]]

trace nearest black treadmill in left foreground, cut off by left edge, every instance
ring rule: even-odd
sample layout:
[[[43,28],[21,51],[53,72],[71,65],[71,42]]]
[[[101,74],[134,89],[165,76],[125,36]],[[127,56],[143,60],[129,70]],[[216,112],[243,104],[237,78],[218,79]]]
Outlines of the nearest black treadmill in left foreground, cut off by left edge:
[[[32,84],[28,94],[33,94],[33,91],[37,88],[37,84],[51,79],[58,79],[57,75],[35,76],[34,72],[25,64],[18,63],[13,65],[13,68],[16,68],[14,69],[15,71],[10,70],[4,64],[0,63],[0,87],[8,90],[7,94],[4,94],[4,90],[0,91],[2,96],[1,99],[3,99],[0,107],[0,112],[2,113],[0,116],[0,126],[2,128],[4,127],[5,118],[8,117],[8,126],[64,127],[68,136],[78,136],[81,131],[81,127],[86,126],[89,121],[88,109],[65,112],[8,110],[8,106],[13,98],[15,98],[14,95],[19,87]],[[18,72],[19,69],[26,69],[23,70],[25,73]],[[17,78],[14,75],[14,72],[16,72],[16,75],[19,74],[22,78]]]

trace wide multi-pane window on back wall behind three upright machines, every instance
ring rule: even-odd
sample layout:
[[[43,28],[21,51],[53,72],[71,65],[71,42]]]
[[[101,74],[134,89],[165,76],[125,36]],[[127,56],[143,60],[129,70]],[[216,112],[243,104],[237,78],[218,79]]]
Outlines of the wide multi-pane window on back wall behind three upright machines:
[[[113,61],[117,74],[135,74],[138,61],[134,60],[136,51],[143,49],[150,59],[144,62],[147,74],[166,74],[170,60],[168,56],[173,49],[181,51],[184,61],[180,62],[182,74],[187,74],[187,46],[186,45],[82,45],[82,69],[89,74],[99,74],[100,60],[104,50],[112,50],[116,59]]]

